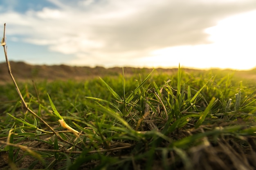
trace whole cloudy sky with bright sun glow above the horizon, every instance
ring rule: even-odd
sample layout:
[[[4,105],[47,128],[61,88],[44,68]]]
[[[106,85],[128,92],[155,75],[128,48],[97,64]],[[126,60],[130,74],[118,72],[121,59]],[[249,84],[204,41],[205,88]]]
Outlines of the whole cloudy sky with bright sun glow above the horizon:
[[[4,23],[28,64],[256,67],[255,0],[0,0]]]

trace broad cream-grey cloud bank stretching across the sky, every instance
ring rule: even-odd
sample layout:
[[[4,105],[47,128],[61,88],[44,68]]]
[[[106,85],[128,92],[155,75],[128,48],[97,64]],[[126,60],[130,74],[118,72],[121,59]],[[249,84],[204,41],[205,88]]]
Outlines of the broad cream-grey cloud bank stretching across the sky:
[[[20,36],[21,42],[73,54],[77,60],[83,56],[120,59],[171,46],[209,44],[205,29],[256,9],[255,0],[75,2],[48,0],[52,6],[40,10],[4,11],[0,22],[7,23],[7,35]]]

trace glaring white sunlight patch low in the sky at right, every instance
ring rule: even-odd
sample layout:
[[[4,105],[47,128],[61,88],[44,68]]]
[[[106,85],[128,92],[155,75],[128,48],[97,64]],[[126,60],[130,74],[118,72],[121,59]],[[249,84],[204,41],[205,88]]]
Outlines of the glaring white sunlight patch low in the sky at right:
[[[256,66],[256,11],[235,15],[205,30],[212,44],[177,46],[156,50],[141,59],[154,67],[233,68]],[[164,61],[164,62],[163,62]]]

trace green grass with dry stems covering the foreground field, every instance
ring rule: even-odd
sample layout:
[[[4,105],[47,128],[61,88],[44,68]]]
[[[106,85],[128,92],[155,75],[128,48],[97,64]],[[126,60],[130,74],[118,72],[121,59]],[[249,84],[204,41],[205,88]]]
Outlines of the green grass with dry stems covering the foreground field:
[[[253,169],[255,83],[240,80],[179,69],[19,84],[62,139],[22,110],[12,84],[1,85],[0,152],[8,158],[0,169]],[[62,118],[80,134],[61,127]]]

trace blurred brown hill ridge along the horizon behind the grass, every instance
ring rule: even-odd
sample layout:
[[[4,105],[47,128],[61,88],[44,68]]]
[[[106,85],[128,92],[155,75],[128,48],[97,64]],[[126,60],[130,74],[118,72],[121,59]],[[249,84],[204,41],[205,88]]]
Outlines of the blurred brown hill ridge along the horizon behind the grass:
[[[33,80],[85,80],[95,77],[118,76],[122,75],[121,67],[104,68],[101,66],[67,66],[67,65],[31,65],[25,62],[10,62],[11,72],[16,80],[31,81]],[[125,76],[134,74],[149,74],[153,68],[133,68],[124,67]],[[182,68],[187,72],[198,72],[202,70]],[[218,70],[218,69],[213,69]],[[230,70],[223,70],[230,72]],[[223,72],[222,71],[222,72]],[[232,71],[236,76],[241,78],[256,79],[256,68],[249,71]],[[177,73],[177,68],[155,68],[155,73]],[[224,73],[224,72],[223,72]],[[0,63],[0,84],[11,82],[11,77],[7,71],[7,64]]]

